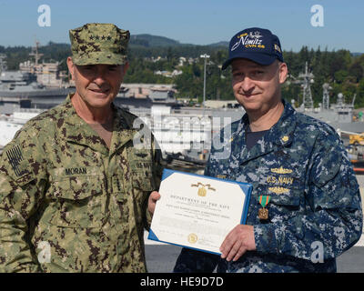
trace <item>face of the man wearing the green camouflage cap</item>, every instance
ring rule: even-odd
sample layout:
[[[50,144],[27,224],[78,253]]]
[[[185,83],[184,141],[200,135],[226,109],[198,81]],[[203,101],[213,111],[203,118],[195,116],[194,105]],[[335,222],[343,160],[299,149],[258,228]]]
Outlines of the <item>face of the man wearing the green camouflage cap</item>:
[[[75,81],[76,94],[86,105],[104,108],[115,99],[126,74],[126,65],[75,65],[67,59],[68,69]]]

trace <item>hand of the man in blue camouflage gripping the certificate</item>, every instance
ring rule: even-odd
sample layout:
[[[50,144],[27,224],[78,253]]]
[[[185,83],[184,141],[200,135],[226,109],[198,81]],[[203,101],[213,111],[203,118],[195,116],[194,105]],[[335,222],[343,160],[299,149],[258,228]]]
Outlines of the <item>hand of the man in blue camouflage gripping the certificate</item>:
[[[237,261],[246,251],[256,250],[254,226],[238,225],[231,230],[220,246],[221,257]]]

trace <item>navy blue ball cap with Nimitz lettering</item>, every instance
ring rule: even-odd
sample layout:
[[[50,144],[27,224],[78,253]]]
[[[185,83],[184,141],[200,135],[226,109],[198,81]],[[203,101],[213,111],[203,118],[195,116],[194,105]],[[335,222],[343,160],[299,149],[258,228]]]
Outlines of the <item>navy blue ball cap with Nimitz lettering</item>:
[[[246,58],[259,65],[270,65],[276,59],[283,62],[282,49],[277,35],[268,29],[252,27],[234,35],[228,45],[228,59],[222,65],[227,65],[236,58]]]

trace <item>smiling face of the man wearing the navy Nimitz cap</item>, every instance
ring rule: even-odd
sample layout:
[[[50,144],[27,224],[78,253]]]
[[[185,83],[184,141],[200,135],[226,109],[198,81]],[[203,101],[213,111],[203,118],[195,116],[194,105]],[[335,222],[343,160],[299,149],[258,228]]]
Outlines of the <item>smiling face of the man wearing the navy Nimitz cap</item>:
[[[258,65],[248,59],[231,63],[234,95],[247,113],[264,114],[280,100],[280,85],[286,81],[287,65],[278,61]]]

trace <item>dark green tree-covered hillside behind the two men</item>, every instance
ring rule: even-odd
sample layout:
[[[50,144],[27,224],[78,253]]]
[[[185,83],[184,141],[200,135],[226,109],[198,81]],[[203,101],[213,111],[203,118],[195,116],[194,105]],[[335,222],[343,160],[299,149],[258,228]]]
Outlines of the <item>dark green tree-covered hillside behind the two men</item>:
[[[140,42],[140,41],[139,41]],[[0,45],[0,54],[7,55],[5,59],[9,70],[16,70],[19,63],[29,60],[31,47]],[[66,71],[66,57],[70,55],[67,44],[49,43],[39,48],[45,62],[61,62],[61,70]],[[200,55],[207,54],[207,99],[231,100],[234,95],[231,89],[231,71],[227,68],[221,71],[221,65],[227,59],[226,45],[173,45],[146,46],[142,44],[129,45],[129,70],[125,83],[174,84],[177,97],[197,98],[202,102],[204,59]],[[156,58],[160,59],[156,61]],[[180,65],[179,57],[186,58]],[[364,107],[364,55],[350,54],[349,50],[329,51],[327,48],[316,50],[303,46],[299,52],[284,51],[283,56],[288,65],[288,82],[283,85],[282,96],[289,102],[295,99],[302,102],[302,87],[298,76],[304,73],[305,64],[314,75],[311,92],[314,105],[322,102],[324,83],[329,83],[330,103],[335,103],[339,93],[345,96],[345,102],[351,103],[356,94],[355,107]],[[41,61],[42,61],[41,60]],[[156,71],[182,71],[181,75],[167,77],[156,75]]]

